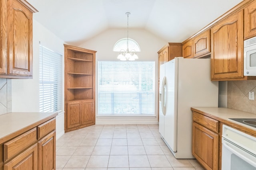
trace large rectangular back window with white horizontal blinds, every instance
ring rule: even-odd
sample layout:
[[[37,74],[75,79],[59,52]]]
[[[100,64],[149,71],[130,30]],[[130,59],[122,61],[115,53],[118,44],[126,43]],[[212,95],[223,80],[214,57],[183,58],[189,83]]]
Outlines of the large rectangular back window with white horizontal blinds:
[[[98,114],[154,115],[154,84],[154,61],[98,61]]]

